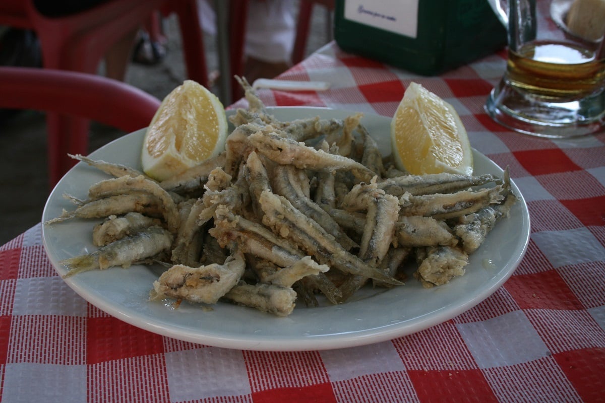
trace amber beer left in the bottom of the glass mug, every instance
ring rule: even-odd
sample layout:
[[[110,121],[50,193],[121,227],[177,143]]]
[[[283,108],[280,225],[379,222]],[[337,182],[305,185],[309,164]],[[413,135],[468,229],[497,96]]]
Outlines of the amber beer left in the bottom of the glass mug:
[[[510,85],[537,97],[574,101],[594,94],[605,83],[605,59],[563,42],[535,41],[508,54]]]

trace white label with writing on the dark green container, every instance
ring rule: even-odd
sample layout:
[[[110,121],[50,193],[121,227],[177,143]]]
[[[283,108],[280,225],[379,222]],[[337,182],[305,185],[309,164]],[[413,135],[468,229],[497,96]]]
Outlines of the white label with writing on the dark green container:
[[[415,38],[419,0],[347,0],[344,18]]]

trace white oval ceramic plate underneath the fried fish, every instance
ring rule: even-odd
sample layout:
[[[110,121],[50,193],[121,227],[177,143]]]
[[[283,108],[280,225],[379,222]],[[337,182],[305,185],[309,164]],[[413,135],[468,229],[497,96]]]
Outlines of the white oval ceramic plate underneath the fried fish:
[[[322,108],[275,108],[281,120],[321,117],[343,118],[347,111]],[[377,139],[381,150],[390,153],[390,118],[365,115],[362,123]],[[126,164],[140,169],[140,147],[144,131],[119,138],[91,154],[91,158]],[[502,169],[474,152],[475,173],[502,175]],[[85,198],[88,187],[103,173],[77,164],[48,198],[42,221],[73,209],[64,193]],[[513,184],[514,192],[520,195]],[[73,220],[44,225],[44,247],[59,274],[67,269],[58,262],[90,253],[91,231],[98,221]],[[252,308],[218,303],[211,310],[182,303],[148,301],[159,268],[132,266],[90,271],[65,280],[85,300],[134,326],[157,334],[218,347],[249,350],[321,350],[377,343],[411,334],[449,320],[491,295],[508,279],[525,254],[529,239],[529,215],[522,197],[508,219],[488,235],[485,244],[471,256],[463,277],[425,289],[414,279],[405,286],[367,289],[339,306],[305,308],[297,306],[287,318],[264,314]]]

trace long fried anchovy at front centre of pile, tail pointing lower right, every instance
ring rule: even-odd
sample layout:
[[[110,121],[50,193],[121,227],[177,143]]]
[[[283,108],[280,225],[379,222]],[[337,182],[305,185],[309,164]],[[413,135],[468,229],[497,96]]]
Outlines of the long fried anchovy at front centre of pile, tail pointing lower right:
[[[260,202],[265,213],[263,224],[272,228],[275,233],[294,240],[307,253],[315,256],[319,263],[350,274],[400,284],[377,268],[368,266],[358,257],[348,253],[332,235],[296,210],[283,196],[265,190],[261,194]]]

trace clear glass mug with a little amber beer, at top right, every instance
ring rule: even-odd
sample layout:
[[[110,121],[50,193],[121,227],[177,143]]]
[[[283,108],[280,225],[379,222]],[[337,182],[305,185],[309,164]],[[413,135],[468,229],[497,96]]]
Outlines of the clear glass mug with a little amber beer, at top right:
[[[605,1],[488,1],[507,25],[508,60],[486,112],[540,137],[605,131]]]

